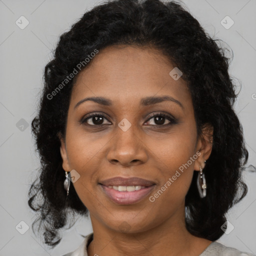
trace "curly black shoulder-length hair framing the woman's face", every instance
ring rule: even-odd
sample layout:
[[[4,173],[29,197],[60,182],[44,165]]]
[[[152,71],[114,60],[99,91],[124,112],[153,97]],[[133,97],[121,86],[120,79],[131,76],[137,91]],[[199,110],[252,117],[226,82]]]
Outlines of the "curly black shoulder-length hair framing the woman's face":
[[[199,197],[194,171],[185,197],[186,228],[212,241],[223,234],[220,226],[226,221],[225,213],[247,193],[241,172],[248,151],[233,110],[237,94],[228,74],[230,58],[219,41],[211,38],[180,3],[160,0],[101,3],[59,37],[53,58],[44,69],[38,114],[31,123],[41,166],[30,186],[28,204],[37,214],[33,225],[39,221],[38,230],[43,231],[45,244],[54,247],[59,243],[59,229],[66,226],[67,220],[88,215],[72,183],[68,197],[63,187],[58,134],[65,135],[75,78],[65,79],[91,52],[110,45],[153,47],[182,71],[191,93],[197,133],[201,134],[206,123],[214,129],[212,151],[204,168],[207,196]],[[61,90],[56,91],[61,83]]]

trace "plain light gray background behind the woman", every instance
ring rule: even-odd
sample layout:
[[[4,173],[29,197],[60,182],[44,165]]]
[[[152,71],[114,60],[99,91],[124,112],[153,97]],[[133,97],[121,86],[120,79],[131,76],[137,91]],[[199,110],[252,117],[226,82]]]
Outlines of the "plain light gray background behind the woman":
[[[34,151],[30,122],[42,88],[44,65],[51,58],[58,36],[67,31],[98,0],[0,0],[0,255],[62,255],[82,241],[79,234],[92,231],[90,220],[80,218],[62,232],[61,242],[49,250],[31,230],[34,214],[27,205],[27,191],[39,160]],[[235,110],[244,128],[248,165],[256,165],[256,1],[185,0],[190,12],[206,31],[233,50],[230,74],[242,84]],[[15,24],[23,15],[29,24]],[[220,21],[228,15],[234,24]],[[230,24],[230,20],[224,21]],[[24,20],[22,22],[24,24]],[[239,85],[238,80],[234,82]],[[20,120],[21,119],[21,120]],[[28,127],[26,127],[28,123]],[[22,126],[23,125],[23,126]],[[244,178],[247,196],[229,214],[234,229],[219,241],[256,254],[256,174],[248,167]],[[49,180],[50,182],[50,180]],[[25,231],[24,221],[28,225]],[[203,224],[203,223],[202,223]],[[17,228],[15,228],[17,226]],[[18,228],[19,227],[19,228]],[[19,230],[19,231],[17,231]]]

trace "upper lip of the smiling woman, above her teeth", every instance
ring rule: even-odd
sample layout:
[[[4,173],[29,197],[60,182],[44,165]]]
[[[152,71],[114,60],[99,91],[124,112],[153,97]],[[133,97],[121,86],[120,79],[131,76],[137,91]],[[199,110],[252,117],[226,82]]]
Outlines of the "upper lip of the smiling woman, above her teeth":
[[[112,177],[99,182],[99,184],[105,186],[151,186],[155,182],[152,180],[147,180],[139,177]]]

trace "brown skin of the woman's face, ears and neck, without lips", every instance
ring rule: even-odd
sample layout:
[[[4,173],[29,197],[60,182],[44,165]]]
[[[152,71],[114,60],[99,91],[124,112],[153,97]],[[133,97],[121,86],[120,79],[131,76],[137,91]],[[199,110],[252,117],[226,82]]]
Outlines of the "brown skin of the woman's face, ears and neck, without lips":
[[[94,239],[88,246],[89,256],[199,255],[211,243],[185,228],[185,195],[193,171],[204,167],[212,144],[206,135],[197,134],[191,95],[182,77],[174,80],[169,75],[173,67],[154,48],[122,45],[100,50],[77,75],[66,134],[60,136],[60,153],[63,169],[75,169],[80,175],[73,185],[90,213]],[[161,95],[175,98],[182,107],[172,101],[140,105],[143,97]],[[112,105],[88,100],[75,107],[89,96],[111,99]],[[159,124],[148,117],[159,111],[174,116],[177,122],[165,118]],[[87,125],[86,121],[80,123],[88,113],[105,113],[107,119],[100,122],[105,126],[96,126],[93,118]],[[126,131],[118,126],[123,118],[131,124]],[[168,123],[171,125],[166,126]],[[212,134],[209,125],[204,129]],[[148,197],[196,152],[200,152],[197,159],[150,202]],[[120,205],[112,202],[98,184],[114,176],[137,176],[156,185],[143,200]],[[129,228],[122,232],[124,220]]]

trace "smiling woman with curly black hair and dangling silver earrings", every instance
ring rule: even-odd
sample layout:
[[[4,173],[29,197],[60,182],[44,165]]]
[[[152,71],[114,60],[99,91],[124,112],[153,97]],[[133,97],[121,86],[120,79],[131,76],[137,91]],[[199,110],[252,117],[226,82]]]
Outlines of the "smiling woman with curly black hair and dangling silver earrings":
[[[228,59],[178,3],[94,7],[44,78],[29,206],[46,244],[89,212],[93,233],[65,256],[252,255],[215,241],[247,191]]]

